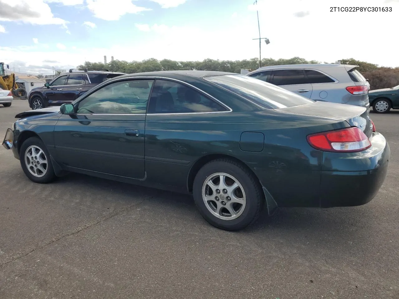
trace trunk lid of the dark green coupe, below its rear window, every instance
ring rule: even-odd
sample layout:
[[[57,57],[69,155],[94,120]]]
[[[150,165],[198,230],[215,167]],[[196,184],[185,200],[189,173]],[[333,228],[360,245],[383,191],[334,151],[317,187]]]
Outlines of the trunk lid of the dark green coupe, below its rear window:
[[[369,111],[365,107],[338,104],[331,102],[314,102],[301,106],[275,109],[279,112],[324,116],[334,118],[337,121],[346,120],[350,126],[356,126],[364,132],[367,138],[373,134],[373,125],[369,116]]]

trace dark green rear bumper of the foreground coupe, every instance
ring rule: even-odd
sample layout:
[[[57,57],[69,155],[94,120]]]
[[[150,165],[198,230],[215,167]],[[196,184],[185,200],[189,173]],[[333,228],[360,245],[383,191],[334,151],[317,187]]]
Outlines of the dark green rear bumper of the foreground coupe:
[[[359,206],[375,197],[387,175],[391,150],[385,138],[379,133],[373,133],[371,144],[370,149],[358,155],[342,157],[341,161],[336,163],[328,161],[332,155],[323,158],[324,163],[329,163],[329,167],[335,169],[321,172],[321,207]],[[356,171],[337,171],[337,168]]]

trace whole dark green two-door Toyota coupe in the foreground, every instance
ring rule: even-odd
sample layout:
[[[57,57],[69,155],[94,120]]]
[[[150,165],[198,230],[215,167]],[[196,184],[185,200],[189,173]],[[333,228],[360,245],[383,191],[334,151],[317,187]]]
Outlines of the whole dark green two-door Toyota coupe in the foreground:
[[[225,230],[253,223],[264,205],[368,203],[390,156],[366,108],[233,73],[124,75],[16,118],[3,145],[32,181],[77,172],[192,193]]]

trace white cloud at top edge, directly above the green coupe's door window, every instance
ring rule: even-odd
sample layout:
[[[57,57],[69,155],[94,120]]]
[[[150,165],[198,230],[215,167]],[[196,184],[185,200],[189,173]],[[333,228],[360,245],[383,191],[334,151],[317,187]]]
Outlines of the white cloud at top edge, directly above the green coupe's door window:
[[[119,20],[124,14],[138,14],[150,10],[149,8],[136,6],[133,0],[86,0],[87,8],[94,16],[107,21]],[[110,5],[111,4],[111,5]]]

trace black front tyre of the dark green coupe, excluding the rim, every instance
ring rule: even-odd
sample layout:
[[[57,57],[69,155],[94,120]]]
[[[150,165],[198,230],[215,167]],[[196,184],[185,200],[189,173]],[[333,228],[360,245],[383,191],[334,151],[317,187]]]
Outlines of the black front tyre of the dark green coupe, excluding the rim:
[[[28,167],[26,166],[25,153],[26,153],[26,150],[28,148],[30,148],[30,146],[36,146],[37,148],[41,149],[45,155],[45,159],[47,161],[47,167],[46,167],[45,174],[41,177],[34,176],[28,170]],[[53,169],[53,163],[51,163],[50,154],[49,154],[47,148],[45,147],[44,143],[38,137],[30,137],[27,140],[25,140],[24,143],[21,145],[20,162],[21,162],[22,170],[24,171],[25,175],[31,181],[33,181],[35,183],[46,184],[46,183],[50,183],[50,182],[54,181],[54,179],[56,178],[54,169]]]

